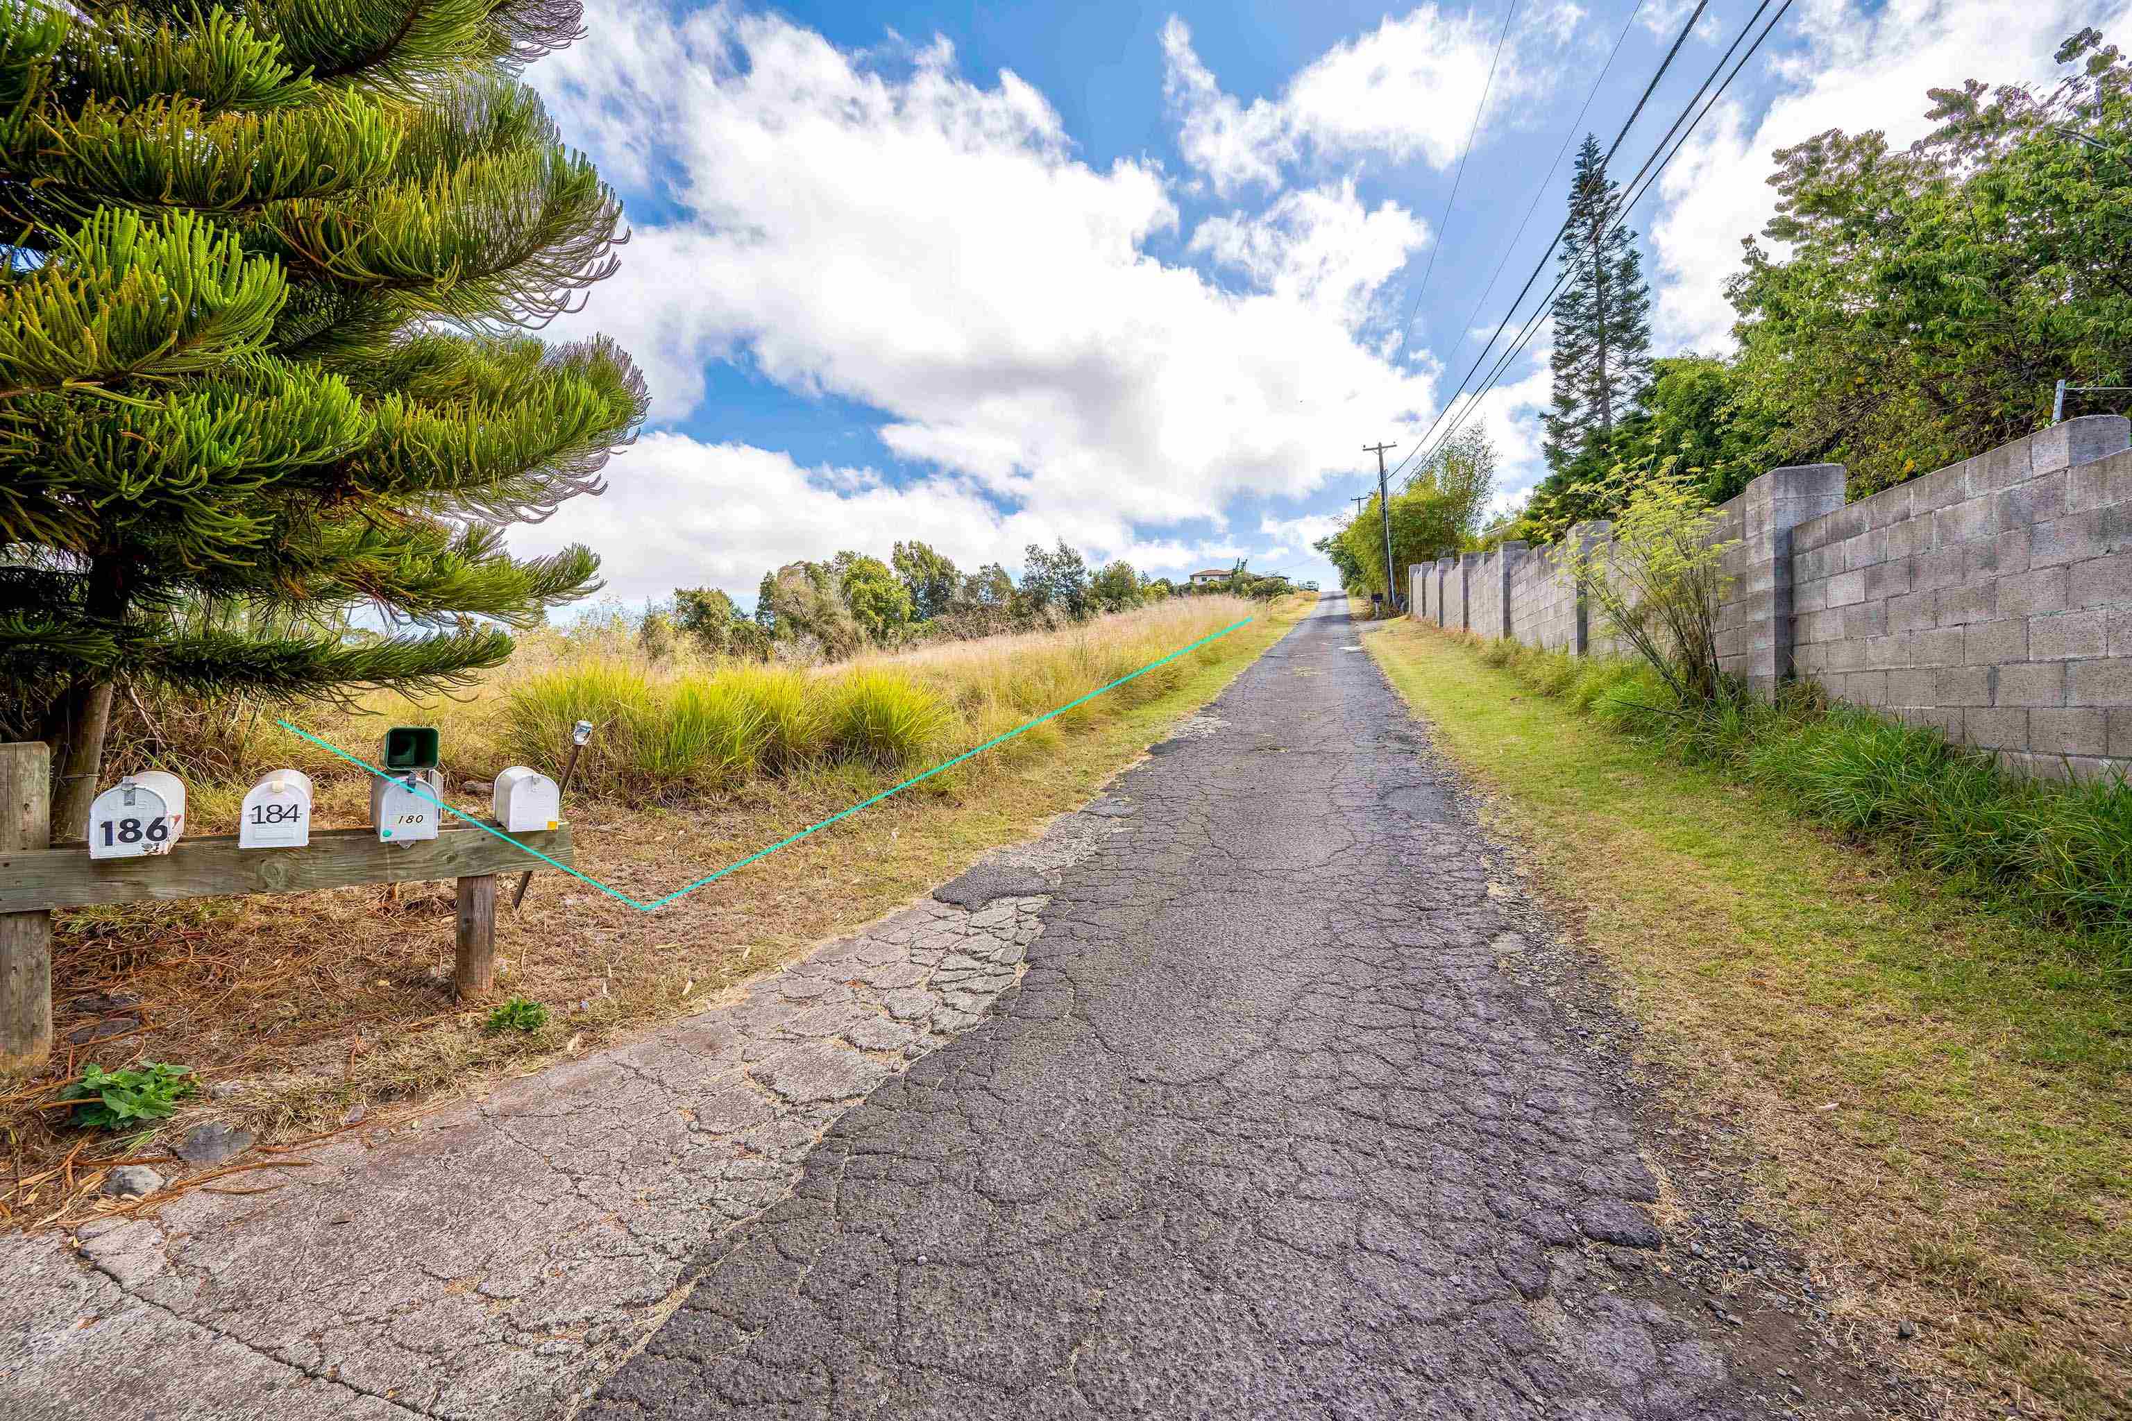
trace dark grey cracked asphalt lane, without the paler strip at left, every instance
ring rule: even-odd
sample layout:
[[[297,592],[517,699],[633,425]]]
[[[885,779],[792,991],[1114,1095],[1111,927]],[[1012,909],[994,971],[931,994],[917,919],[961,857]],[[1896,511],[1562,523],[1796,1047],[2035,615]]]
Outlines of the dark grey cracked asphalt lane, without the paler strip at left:
[[[1620,1063],[1507,967],[1516,891],[1354,643],[1328,599],[1126,773],[1021,984],[844,1112],[580,1415],[1774,1410],[1637,1285]]]

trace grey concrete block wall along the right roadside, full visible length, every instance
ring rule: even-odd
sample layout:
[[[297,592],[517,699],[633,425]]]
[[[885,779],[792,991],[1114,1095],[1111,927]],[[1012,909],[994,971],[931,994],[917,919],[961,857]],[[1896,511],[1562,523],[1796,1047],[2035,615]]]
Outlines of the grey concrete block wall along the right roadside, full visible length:
[[[1608,524],[1569,530],[1603,548]],[[1857,503],[1842,464],[1774,469],[1718,507],[1718,658],[1940,726],[2038,775],[2132,769],[2132,424],[2066,420]],[[1414,616],[1610,652],[1546,548],[1407,569]]]

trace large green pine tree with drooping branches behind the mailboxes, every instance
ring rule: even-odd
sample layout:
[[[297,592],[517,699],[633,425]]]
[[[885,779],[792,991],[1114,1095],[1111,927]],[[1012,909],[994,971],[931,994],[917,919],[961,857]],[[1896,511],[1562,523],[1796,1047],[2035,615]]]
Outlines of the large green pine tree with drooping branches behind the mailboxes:
[[[516,79],[578,15],[0,0],[0,677],[55,839],[122,677],[454,686],[599,586],[501,533],[646,409],[605,339],[529,334],[614,271],[616,196]]]

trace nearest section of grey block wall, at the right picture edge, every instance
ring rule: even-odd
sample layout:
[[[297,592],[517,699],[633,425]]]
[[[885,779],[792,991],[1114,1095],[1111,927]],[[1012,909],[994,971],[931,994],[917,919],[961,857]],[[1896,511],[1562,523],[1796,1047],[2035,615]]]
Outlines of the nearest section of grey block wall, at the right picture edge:
[[[1793,528],[1793,663],[2042,775],[2132,763],[2132,426],[2068,420]]]

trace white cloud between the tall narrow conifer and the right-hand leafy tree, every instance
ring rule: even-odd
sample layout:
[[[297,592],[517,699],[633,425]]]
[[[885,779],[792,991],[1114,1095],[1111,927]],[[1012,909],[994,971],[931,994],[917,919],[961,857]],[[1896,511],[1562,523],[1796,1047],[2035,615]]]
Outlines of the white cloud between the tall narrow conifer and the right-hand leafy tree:
[[[1654,326],[1667,349],[1731,345],[1725,281],[1740,239],[1776,211],[1770,153],[1829,128],[1878,128],[1891,145],[1932,130],[1927,87],[1964,79],[2023,83],[2053,77],[2057,43],[2085,23],[2115,34],[2126,6],[2098,17],[2068,0],[1808,0],[1793,11],[1804,47],[1759,60],[1778,75],[1759,119],[1725,100],[1661,179],[1665,207],[1650,228],[1657,258]],[[1782,38],[1782,34],[1778,36]],[[1742,79],[1753,77],[1753,68]]]

